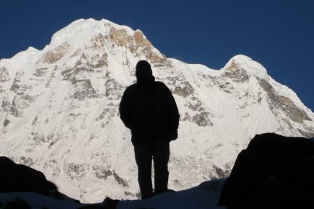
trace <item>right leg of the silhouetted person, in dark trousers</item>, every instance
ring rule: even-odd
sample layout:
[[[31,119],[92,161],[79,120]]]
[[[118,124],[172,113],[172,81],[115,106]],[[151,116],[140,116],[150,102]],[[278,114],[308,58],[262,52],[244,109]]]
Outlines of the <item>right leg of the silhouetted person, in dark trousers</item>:
[[[166,192],[168,188],[168,161],[170,148],[168,141],[155,141],[153,144],[153,160],[155,169],[155,193]]]

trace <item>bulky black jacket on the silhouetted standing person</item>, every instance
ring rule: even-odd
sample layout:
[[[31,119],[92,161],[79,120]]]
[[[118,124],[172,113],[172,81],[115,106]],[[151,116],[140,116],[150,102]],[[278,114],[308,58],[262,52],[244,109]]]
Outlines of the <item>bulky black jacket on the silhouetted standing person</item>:
[[[138,70],[137,70],[138,71]],[[163,82],[151,73],[138,73],[137,83],[126,88],[119,107],[121,120],[131,130],[132,143],[174,140],[179,126],[177,104]]]

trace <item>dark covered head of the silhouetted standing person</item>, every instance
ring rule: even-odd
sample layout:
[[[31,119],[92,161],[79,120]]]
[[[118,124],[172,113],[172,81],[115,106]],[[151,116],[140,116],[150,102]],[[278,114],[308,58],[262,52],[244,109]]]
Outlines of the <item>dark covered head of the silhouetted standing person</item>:
[[[135,66],[135,76],[137,83],[146,83],[154,81],[153,71],[151,65],[146,60],[138,61]]]

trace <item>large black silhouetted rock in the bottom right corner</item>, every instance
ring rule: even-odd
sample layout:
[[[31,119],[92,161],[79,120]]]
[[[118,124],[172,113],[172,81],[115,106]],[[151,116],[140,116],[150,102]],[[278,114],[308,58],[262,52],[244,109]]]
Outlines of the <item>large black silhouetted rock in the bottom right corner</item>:
[[[256,135],[246,150],[239,153],[218,205],[257,208],[263,202],[264,208],[273,208],[285,205],[288,201],[284,200],[293,195],[290,203],[307,201],[306,196],[313,194],[313,186],[309,192],[305,187],[313,183],[313,171],[309,171],[313,169],[313,153],[310,139],[273,133]],[[302,194],[297,192],[299,188],[306,193],[299,195]],[[271,189],[281,194],[270,192]]]

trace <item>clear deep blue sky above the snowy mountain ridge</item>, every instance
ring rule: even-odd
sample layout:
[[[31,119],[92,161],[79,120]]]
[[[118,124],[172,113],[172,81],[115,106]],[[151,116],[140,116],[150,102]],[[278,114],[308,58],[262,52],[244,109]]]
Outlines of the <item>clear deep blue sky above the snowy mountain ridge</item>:
[[[1,1],[0,58],[43,49],[54,32],[89,17],[141,29],[187,63],[219,69],[246,54],[314,110],[314,1]]]

